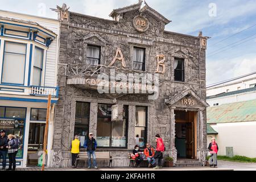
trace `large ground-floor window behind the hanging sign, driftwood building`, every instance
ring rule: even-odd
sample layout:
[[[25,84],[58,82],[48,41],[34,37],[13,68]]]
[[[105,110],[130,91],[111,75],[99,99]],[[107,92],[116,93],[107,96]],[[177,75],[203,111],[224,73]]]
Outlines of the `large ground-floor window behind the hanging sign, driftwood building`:
[[[128,106],[123,106],[123,121],[111,121],[112,105],[98,105],[98,147],[127,147]]]

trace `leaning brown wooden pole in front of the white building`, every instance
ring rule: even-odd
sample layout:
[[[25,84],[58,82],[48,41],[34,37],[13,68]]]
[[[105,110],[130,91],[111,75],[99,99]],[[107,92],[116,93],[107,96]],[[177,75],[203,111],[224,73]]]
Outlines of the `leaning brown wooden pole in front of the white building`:
[[[42,171],[44,171],[44,165],[46,164],[46,153],[47,153],[47,138],[48,138],[48,127],[49,127],[49,112],[51,109],[51,94],[48,96],[47,114],[46,114],[46,129],[44,130],[44,151],[43,151],[43,164]]]

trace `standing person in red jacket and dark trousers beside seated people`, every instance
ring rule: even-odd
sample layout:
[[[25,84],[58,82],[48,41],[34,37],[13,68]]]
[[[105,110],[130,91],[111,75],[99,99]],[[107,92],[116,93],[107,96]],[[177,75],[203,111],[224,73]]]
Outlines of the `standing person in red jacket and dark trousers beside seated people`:
[[[154,169],[162,168],[162,159],[163,159],[163,152],[165,151],[163,139],[160,138],[159,134],[155,135],[155,141],[156,141],[156,152],[154,155],[155,161],[156,161],[156,167]]]

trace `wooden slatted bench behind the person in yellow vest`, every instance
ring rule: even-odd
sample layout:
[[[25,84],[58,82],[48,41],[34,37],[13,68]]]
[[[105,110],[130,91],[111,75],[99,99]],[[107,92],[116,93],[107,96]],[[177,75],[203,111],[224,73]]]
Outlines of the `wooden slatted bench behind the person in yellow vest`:
[[[109,168],[112,168],[112,155],[111,152],[95,152],[96,160],[109,160]],[[92,155],[90,156],[93,159]],[[80,152],[76,158],[76,166],[80,160],[88,160],[87,152]],[[111,164],[111,167],[110,167]]]

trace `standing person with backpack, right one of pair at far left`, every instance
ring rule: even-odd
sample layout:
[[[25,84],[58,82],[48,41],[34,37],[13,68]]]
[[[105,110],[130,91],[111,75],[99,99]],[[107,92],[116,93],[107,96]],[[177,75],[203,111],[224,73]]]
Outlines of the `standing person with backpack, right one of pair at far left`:
[[[9,155],[9,168],[6,171],[15,171],[16,169],[16,155],[18,153],[19,143],[15,135],[8,135],[7,146]],[[13,168],[12,168],[13,167]]]

